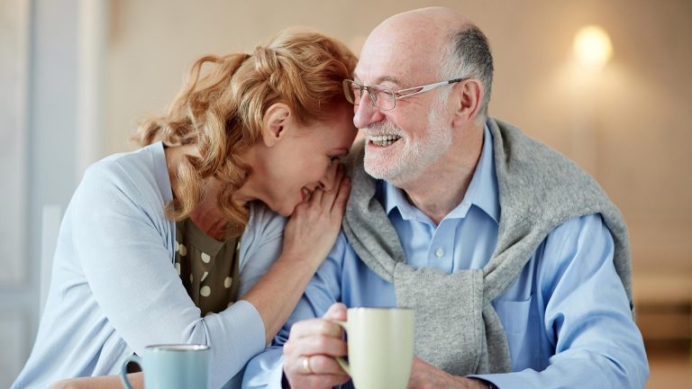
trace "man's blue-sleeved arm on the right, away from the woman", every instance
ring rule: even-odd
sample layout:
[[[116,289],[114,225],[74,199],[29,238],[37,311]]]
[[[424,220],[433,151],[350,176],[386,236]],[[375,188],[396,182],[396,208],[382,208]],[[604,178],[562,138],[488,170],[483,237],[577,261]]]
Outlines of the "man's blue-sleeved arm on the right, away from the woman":
[[[472,376],[500,389],[643,388],[649,366],[642,334],[615,272],[613,238],[601,217],[560,225],[539,256],[534,297],[544,309],[542,325],[554,348],[550,365],[542,371]]]

